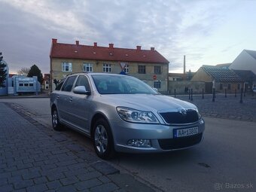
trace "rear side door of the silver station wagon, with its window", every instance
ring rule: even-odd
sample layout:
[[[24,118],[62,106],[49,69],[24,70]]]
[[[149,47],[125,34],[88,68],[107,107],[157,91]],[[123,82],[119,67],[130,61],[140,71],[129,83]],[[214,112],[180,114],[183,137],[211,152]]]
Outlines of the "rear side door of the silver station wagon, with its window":
[[[72,122],[72,111],[74,111],[74,108],[72,108],[72,87],[75,82],[75,79],[78,77],[78,75],[71,76],[67,78],[65,81],[65,84],[62,86],[61,92],[59,93],[59,99],[58,99],[58,110],[59,110],[59,116],[61,117],[61,120],[65,121],[66,123]]]

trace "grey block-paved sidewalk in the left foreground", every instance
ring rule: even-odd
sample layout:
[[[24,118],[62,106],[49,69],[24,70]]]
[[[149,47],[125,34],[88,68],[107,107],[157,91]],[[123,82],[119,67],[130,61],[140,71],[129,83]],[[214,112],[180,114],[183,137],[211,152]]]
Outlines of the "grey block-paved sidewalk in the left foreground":
[[[153,191],[10,107],[0,102],[1,192]]]

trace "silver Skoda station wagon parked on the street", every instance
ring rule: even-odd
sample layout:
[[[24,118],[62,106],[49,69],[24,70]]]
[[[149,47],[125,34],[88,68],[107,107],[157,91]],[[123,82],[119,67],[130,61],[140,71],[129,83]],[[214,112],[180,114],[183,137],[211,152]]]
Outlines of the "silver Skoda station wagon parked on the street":
[[[197,145],[205,123],[197,107],[127,75],[75,73],[50,95],[54,130],[69,126],[93,139],[102,159]]]

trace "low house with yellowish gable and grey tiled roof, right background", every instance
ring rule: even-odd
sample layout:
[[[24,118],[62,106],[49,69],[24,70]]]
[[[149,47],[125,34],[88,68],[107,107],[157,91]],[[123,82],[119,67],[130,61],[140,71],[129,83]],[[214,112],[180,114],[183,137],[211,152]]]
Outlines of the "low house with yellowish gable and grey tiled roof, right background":
[[[216,92],[234,93],[242,88],[243,81],[230,69],[217,66],[202,66],[191,81],[203,81],[206,83],[206,93],[212,93],[212,88],[215,87]]]

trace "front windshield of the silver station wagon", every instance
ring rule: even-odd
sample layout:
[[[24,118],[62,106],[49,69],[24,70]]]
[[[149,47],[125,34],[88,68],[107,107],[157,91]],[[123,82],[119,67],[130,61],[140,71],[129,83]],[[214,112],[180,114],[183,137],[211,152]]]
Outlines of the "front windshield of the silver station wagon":
[[[159,94],[148,84],[126,75],[92,75],[100,94]]]

